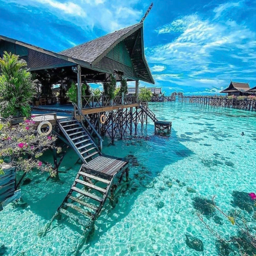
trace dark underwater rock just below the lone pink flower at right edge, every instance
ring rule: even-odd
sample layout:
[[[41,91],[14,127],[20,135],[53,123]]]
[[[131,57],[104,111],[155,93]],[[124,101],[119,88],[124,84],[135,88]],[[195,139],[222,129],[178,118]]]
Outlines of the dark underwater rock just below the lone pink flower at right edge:
[[[237,206],[242,210],[246,210],[249,214],[256,209],[256,207],[254,206],[254,201],[251,200],[248,193],[234,190],[232,192],[232,196],[233,196],[233,201],[231,201],[232,205]]]

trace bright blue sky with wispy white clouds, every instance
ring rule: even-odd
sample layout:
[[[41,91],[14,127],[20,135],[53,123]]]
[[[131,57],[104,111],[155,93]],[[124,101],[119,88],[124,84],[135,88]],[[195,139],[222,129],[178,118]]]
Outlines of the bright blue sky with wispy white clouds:
[[[0,34],[58,52],[138,23],[150,4],[0,0]],[[144,42],[156,86],[166,94],[215,94],[230,79],[256,86],[255,12],[255,0],[154,1]]]

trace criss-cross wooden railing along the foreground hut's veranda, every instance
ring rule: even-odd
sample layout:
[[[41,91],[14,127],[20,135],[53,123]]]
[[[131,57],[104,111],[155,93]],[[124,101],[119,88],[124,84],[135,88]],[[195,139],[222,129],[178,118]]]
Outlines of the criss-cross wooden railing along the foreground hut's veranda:
[[[138,103],[138,96],[81,96],[82,109],[102,108],[102,106],[129,105]]]

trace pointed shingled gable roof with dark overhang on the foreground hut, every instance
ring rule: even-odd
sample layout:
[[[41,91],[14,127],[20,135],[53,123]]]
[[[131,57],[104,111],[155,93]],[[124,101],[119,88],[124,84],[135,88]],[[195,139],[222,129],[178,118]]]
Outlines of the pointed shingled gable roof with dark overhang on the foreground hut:
[[[143,23],[101,36],[59,54],[89,62],[94,66],[121,41],[124,41],[139,79],[155,83],[144,55]]]

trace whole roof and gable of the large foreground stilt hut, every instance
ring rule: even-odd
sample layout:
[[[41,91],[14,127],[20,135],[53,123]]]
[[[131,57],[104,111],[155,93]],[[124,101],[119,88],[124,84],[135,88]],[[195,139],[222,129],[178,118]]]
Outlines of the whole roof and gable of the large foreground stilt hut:
[[[130,80],[139,79],[148,83],[155,83],[144,55],[143,23],[115,31],[59,53],[0,35],[0,46],[1,41],[28,49],[26,54],[20,57],[26,60],[30,71],[61,68],[77,64],[88,70],[101,73],[118,73],[121,71]],[[127,56],[125,58],[130,61],[131,66],[126,66],[125,63],[120,62],[119,56],[118,59],[115,58],[114,50],[117,49],[115,46],[119,43],[123,46],[122,50],[126,51]],[[2,44],[2,48],[6,49],[6,46]],[[114,51],[113,58],[107,58],[107,54],[112,50]],[[13,52],[13,50],[10,49],[10,52]],[[15,50],[14,52],[16,54]]]

